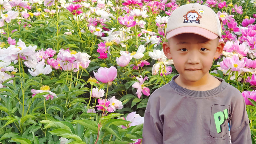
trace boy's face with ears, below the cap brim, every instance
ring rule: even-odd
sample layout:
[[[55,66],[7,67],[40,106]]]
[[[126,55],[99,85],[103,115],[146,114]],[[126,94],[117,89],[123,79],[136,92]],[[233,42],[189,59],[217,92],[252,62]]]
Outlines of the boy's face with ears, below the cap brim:
[[[192,33],[174,36],[163,43],[164,54],[173,59],[180,78],[187,82],[199,81],[209,74],[213,59],[219,58],[223,47],[218,38],[209,40]]]

